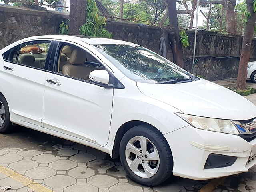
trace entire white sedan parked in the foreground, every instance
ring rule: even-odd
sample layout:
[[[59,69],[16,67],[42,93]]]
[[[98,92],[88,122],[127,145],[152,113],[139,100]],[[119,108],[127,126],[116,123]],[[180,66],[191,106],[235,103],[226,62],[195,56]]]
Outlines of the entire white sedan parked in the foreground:
[[[102,150],[147,186],[256,164],[256,106],[142,46],[48,35],[0,55],[1,133],[19,124]]]

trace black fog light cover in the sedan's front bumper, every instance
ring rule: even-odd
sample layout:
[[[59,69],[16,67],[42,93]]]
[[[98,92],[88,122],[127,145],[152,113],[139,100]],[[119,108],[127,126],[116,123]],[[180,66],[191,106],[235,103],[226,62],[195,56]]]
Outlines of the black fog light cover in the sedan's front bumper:
[[[212,153],[208,156],[204,169],[228,167],[234,164],[236,159],[237,157]]]

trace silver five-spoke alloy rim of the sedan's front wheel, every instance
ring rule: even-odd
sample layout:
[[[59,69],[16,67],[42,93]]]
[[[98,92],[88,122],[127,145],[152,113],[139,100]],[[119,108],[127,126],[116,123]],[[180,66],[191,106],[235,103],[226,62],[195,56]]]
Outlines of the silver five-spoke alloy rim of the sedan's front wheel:
[[[150,178],[159,168],[160,158],[156,146],[146,137],[131,138],[125,149],[126,162],[132,172],[142,178]]]

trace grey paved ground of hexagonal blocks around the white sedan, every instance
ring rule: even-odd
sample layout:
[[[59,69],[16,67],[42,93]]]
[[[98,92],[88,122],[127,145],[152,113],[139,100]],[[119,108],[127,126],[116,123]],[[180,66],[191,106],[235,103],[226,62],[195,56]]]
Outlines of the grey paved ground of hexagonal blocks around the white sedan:
[[[256,94],[246,98],[256,104]],[[0,134],[0,186],[11,186],[10,192],[256,192],[256,166],[206,181],[174,176],[148,188],[130,180],[120,161],[106,153],[17,126],[11,134]]]

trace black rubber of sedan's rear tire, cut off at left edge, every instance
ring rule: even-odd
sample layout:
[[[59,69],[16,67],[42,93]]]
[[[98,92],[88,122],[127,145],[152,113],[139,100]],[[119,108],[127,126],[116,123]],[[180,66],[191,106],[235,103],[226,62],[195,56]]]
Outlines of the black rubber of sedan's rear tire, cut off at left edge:
[[[6,99],[1,94],[0,94],[0,102],[3,104],[5,109],[4,123],[0,126],[0,133],[12,132],[13,126],[12,126],[12,123],[10,122],[9,106],[7,104]]]

